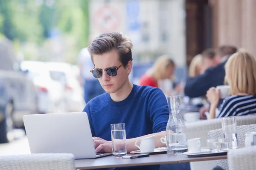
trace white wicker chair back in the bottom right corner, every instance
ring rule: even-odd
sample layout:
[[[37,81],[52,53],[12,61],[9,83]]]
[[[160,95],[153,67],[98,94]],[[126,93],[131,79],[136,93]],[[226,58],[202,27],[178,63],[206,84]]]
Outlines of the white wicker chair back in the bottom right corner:
[[[230,170],[255,170],[256,146],[230,150],[227,160]]]

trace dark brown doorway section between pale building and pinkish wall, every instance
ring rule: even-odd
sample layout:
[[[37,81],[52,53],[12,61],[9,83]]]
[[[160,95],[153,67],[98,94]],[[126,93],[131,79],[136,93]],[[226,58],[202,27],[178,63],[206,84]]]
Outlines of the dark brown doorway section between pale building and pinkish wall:
[[[186,0],[186,62],[212,47],[212,11],[208,0]]]

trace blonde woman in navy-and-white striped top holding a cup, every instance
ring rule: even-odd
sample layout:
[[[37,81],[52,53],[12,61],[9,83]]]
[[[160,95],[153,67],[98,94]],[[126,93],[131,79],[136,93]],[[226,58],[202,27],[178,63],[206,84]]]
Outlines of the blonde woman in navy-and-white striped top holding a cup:
[[[220,117],[242,116],[256,113],[256,60],[242,50],[236,52],[225,65],[225,80],[230,85],[231,96],[224,99]],[[209,119],[215,118],[215,109],[220,99],[220,91],[214,87],[207,91],[211,103]]]

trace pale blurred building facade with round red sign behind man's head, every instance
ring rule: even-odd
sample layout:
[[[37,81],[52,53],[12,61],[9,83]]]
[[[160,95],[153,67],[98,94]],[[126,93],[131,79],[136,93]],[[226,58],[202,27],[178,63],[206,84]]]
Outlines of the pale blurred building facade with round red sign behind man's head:
[[[90,0],[90,34],[120,31],[131,38],[135,63],[170,54],[186,65],[185,0]]]

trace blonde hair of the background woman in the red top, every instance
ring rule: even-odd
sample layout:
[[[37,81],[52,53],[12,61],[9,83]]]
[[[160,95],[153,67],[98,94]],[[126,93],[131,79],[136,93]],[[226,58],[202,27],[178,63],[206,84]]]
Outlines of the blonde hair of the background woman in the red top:
[[[155,80],[160,80],[165,78],[166,68],[175,66],[174,61],[168,55],[160,56],[154,65],[146,72],[148,76],[153,77]],[[170,77],[171,78],[171,77]]]

